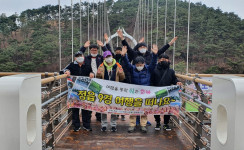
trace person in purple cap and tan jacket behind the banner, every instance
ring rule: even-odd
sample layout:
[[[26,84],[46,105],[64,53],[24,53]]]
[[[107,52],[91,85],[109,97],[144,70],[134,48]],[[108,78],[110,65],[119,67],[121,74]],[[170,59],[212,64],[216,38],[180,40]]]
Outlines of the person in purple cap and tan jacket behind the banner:
[[[98,67],[96,77],[104,80],[122,82],[125,79],[123,68],[113,58],[112,53],[110,51],[105,51],[103,53],[103,59],[104,59],[103,63]],[[116,120],[117,120],[117,116],[111,114],[110,125],[111,125],[112,132],[117,131]],[[101,131],[105,132],[107,131],[107,126],[108,126],[107,114],[101,115],[101,121],[102,121]]]

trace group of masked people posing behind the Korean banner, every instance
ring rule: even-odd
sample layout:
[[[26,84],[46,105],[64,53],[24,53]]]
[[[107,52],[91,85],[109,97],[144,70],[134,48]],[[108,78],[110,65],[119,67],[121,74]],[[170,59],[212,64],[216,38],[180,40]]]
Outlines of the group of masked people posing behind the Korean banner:
[[[65,67],[60,74],[74,76],[88,76],[90,78],[100,78],[104,80],[124,82],[128,84],[145,85],[145,86],[170,86],[181,85],[175,76],[173,69],[170,69],[169,57],[164,52],[177,40],[173,38],[168,44],[158,49],[157,45],[152,45],[149,50],[144,38],[138,44],[131,48],[123,36],[121,30],[117,31],[122,41],[123,47],[117,47],[113,53],[109,45],[107,34],[104,35],[106,45],[97,40],[96,44],[85,42],[84,46],[75,54],[75,61]],[[98,54],[99,47],[103,50],[103,56]],[[89,48],[90,54],[85,56],[85,51]],[[72,124],[74,131],[81,129],[79,119],[79,108],[72,108]],[[83,128],[92,131],[91,114],[89,110],[81,110]],[[155,130],[161,129],[160,115],[155,115]],[[96,113],[96,118],[101,121],[101,131],[105,132],[108,128],[107,114]],[[111,131],[117,131],[117,115],[111,114],[110,125]],[[122,116],[125,120],[125,117]],[[129,117],[130,125],[128,132],[135,131],[135,126],[139,123],[142,132],[147,132],[147,116]],[[171,130],[169,123],[170,116],[164,115],[163,129]]]

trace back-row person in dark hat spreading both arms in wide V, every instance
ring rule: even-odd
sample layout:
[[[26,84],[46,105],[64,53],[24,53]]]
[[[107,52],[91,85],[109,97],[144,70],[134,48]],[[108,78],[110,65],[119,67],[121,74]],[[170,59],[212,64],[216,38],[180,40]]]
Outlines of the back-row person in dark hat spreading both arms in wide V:
[[[132,59],[133,64],[135,64],[134,60],[137,56],[142,56],[145,59],[146,64],[150,64],[152,60],[151,52],[148,51],[148,46],[144,43],[144,38],[142,38],[139,43],[132,49],[127,41],[125,40],[122,30],[117,31],[118,36],[122,40],[122,45],[126,46],[128,49],[128,57]],[[177,40],[178,37],[174,37],[168,44],[164,45],[161,49],[158,50],[158,56],[163,54],[173,43]]]

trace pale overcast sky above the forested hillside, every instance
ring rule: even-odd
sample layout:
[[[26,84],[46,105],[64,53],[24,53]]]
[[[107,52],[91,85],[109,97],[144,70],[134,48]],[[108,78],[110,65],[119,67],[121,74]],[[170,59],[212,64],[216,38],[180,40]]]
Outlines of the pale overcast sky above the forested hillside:
[[[73,0],[73,3],[78,2],[79,0]],[[219,7],[224,12],[234,12],[244,19],[244,0],[191,0],[191,2],[202,2],[208,7]],[[70,0],[61,0],[61,5],[70,5],[70,3]],[[26,9],[39,8],[47,4],[58,5],[58,0],[0,0],[0,14],[6,13],[7,16],[15,12],[20,14]]]

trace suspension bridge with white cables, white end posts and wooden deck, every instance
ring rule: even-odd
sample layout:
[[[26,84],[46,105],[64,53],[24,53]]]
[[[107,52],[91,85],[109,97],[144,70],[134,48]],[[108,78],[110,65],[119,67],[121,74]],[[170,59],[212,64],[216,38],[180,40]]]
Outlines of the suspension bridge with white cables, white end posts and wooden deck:
[[[176,36],[177,1],[174,10],[174,37]],[[59,3],[59,66],[61,61],[61,4]],[[100,3],[100,7],[95,7]],[[157,5],[154,10],[153,5]],[[82,1],[80,0],[80,16]],[[167,0],[165,7],[165,35],[167,43]],[[73,0],[71,0],[72,24],[72,61],[73,47]],[[96,9],[95,9],[96,8]],[[159,0],[139,0],[133,35],[129,35],[123,27],[123,35],[130,39],[133,45],[144,37],[148,45],[158,44]],[[90,13],[89,6],[87,8]],[[87,15],[87,39],[98,39],[105,43],[103,33],[108,33],[109,42],[113,39],[118,45],[118,34],[110,33],[106,1],[93,0],[92,18]],[[153,17],[156,15],[156,26]],[[213,149],[229,150],[243,149],[241,137],[244,134],[242,124],[244,74],[190,74],[189,73],[189,27],[190,0],[188,8],[188,35],[186,75],[177,74],[184,83],[180,92],[182,107],[179,117],[171,117],[172,131],[155,132],[154,126],[148,127],[147,134],[129,134],[127,122],[119,121],[118,132],[102,133],[100,122],[92,118],[93,131],[73,132],[71,125],[72,112],[66,105],[67,75],[57,72],[49,73],[19,73],[0,72],[1,94],[1,145],[3,149]],[[156,38],[153,40],[153,30],[156,28]],[[82,19],[80,17],[80,43],[82,39]],[[91,36],[90,36],[91,35]],[[117,39],[116,39],[117,38]],[[112,46],[113,48],[113,46]],[[175,49],[173,45],[173,68],[175,67]],[[89,53],[89,51],[88,51]],[[100,49],[100,54],[102,53]],[[65,64],[66,65],[66,64]],[[11,108],[6,107],[11,106]],[[189,109],[189,107],[191,109]],[[194,110],[192,110],[194,109]],[[10,112],[13,110],[12,112]],[[10,112],[10,113],[9,113]],[[6,114],[8,113],[8,114]],[[128,118],[126,118],[128,120]],[[149,121],[154,122],[153,117]]]

